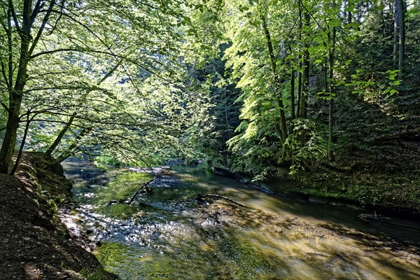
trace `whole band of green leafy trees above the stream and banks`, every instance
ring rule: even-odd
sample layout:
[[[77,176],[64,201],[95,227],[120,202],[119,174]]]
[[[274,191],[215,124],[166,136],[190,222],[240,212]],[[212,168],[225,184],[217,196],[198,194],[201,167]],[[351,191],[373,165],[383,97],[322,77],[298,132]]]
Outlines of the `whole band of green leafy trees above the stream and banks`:
[[[360,106],[416,116],[416,1],[0,6],[3,173],[23,150],[293,173],[393,133],[379,121],[356,128]]]

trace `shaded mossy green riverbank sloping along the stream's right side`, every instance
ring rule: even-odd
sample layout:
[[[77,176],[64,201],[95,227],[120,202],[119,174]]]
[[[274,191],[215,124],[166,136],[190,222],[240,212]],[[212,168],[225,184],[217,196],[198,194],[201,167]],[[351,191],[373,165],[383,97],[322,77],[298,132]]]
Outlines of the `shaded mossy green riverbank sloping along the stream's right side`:
[[[379,141],[379,140],[378,140]],[[372,211],[420,216],[420,141],[394,139],[369,151],[337,151],[334,162],[313,162],[311,168],[290,174],[290,168],[269,167],[259,188],[325,203],[352,204]],[[216,167],[214,167],[215,169]],[[218,168],[216,168],[218,169]],[[250,182],[252,175],[226,169],[218,174]]]

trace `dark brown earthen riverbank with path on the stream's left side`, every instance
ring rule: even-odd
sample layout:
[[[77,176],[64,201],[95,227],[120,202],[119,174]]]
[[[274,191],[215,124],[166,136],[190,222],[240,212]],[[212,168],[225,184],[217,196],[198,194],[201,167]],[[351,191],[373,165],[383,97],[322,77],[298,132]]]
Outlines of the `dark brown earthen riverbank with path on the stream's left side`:
[[[0,279],[116,279],[57,218],[71,183],[50,164],[28,153],[16,176],[0,174]]]

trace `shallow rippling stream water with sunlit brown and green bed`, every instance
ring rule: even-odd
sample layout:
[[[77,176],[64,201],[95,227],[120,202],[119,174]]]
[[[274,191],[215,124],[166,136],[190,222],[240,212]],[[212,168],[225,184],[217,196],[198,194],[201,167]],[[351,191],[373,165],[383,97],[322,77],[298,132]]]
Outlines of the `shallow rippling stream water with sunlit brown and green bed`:
[[[420,279],[420,223],[365,223],[363,209],[280,197],[197,168],[65,162],[71,231],[121,279]],[[149,184],[153,194],[139,193]],[[222,195],[224,199],[196,195]]]

